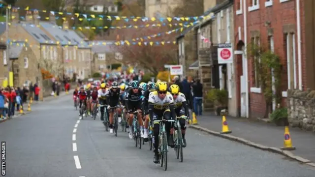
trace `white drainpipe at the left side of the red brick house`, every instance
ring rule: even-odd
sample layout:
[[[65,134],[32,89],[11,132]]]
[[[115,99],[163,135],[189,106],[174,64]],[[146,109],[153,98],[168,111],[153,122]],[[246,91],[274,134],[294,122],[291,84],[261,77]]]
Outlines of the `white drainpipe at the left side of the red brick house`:
[[[245,88],[246,88],[246,118],[250,116],[250,105],[249,105],[249,80],[248,80],[248,59],[247,59],[247,8],[246,8],[246,1],[243,0],[243,13],[244,13],[244,43],[245,43],[245,51],[243,55],[245,55]]]

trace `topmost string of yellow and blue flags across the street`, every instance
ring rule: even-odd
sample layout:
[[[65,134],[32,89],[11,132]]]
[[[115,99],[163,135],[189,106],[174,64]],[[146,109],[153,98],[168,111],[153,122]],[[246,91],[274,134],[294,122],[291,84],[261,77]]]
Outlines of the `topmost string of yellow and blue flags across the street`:
[[[20,7],[12,7],[11,5],[5,5],[0,3],[0,8],[8,8],[8,9],[21,9]],[[201,15],[201,16],[191,16],[191,17],[140,17],[140,16],[130,16],[130,17],[126,17],[126,16],[116,16],[116,15],[98,15],[98,14],[85,14],[85,13],[71,13],[71,12],[60,12],[60,11],[47,11],[47,10],[40,10],[40,9],[32,9],[29,6],[27,6],[24,10],[27,11],[37,11],[37,12],[50,12],[52,15],[74,15],[76,18],[81,17],[81,19],[104,19],[106,18],[107,20],[125,20],[126,22],[129,21],[143,21],[143,22],[148,22],[148,21],[160,21],[160,22],[164,22],[164,21],[168,21],[168,22],[172,22],[172,21],[197,21],[197,20],[203,20],[205,18],[207,18],[207,16],[205,15]],[[80,20],[80,18],[79,18]],[[81,20],[81,21],[82,21]]]

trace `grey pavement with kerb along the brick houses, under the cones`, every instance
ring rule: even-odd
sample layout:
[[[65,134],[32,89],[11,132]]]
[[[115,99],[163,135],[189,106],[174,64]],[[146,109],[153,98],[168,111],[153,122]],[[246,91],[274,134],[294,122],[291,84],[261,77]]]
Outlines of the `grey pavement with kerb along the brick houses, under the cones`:
[[[204,130],[222,138],[234,140],[255,148],[269,150],[283,154],[301,163],[308,163],[315,166],[315,134],[313,132],[301,130],[300,128],[290,128],[292,145],[296,148],[292,151],[281,150],[284,146],[284,127],[276,126],[274,123],[247,118],[226,117],[231,134],[220,134],[222,128],[222,117],[205,113],[198,116],[198,125],[191,128]]]

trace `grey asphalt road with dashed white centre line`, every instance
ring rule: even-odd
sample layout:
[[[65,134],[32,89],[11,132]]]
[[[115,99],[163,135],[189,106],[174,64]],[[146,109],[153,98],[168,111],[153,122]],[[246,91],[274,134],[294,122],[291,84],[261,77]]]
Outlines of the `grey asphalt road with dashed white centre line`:
[[[283,156],[188,129],[184,162],[170,149],[168,170],[149,146],[135,148],[98,120],[79,120],[71,96],[35,105],[31,114],[0,123],[7,177],[314,177],[315,169]]]

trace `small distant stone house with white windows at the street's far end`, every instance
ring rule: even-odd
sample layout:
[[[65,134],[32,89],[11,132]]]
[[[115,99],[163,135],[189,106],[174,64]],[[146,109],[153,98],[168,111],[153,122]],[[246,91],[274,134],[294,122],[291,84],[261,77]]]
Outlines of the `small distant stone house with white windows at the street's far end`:
[[[120,63],[122,55],[115,50],[115,46],[112,45],[113,41],[91,41],[92,45],[92,70],[93,73],[108,72],[111,69],[111,65]]]

